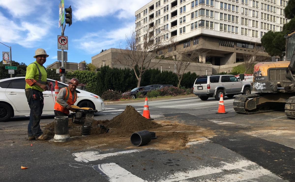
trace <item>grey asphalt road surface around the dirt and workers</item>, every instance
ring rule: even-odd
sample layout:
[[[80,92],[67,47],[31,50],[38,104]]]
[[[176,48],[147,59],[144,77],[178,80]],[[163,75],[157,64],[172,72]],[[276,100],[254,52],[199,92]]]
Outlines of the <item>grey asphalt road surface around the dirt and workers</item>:
[[[284,112],[239,115],[225,97],[149,102],[151,118],[214,131],[186,150],[77,148],[27,141],[27,117],[0,123],[0,181],[295,181],[295,124]],[[107,105],[96,120],[112,119],[126,105]],[[132,103],[142,113],[144,103]],[[42,117],[42,125],[53,116]],[[31,146],[32,144],[32,146]],[[20,166],[28,166],[26,170]]]

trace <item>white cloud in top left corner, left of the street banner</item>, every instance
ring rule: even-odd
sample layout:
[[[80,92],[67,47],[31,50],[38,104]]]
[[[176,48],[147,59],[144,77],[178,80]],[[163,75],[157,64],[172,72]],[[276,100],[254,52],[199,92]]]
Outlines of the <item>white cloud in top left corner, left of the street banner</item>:
[[[19,44],[23,47],[34,47],[36,43],[41,42],[49,34],[53,25],[53,20],[49,18],[50,4],[42,7],[42,14],[40,14],[36,11],[40,8],[37,7],[40,5],[38,1],[0,0],[0,6],[7,9],[14,17],[8,18],[9,14],[4,15],[0,12],[0,41]]]

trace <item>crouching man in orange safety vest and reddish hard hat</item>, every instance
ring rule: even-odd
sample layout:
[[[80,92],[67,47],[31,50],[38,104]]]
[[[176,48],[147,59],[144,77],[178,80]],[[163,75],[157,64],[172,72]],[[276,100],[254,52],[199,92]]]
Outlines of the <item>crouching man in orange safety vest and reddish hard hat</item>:
[[[54,105],[55,116],[68,116],[72,109],[71,105],[74,105],[77,101],[77,93],[75,90],[79,85],[79,80],[77,78],[72,78],[68,85],[68,87],[63,87],[58,92]]]

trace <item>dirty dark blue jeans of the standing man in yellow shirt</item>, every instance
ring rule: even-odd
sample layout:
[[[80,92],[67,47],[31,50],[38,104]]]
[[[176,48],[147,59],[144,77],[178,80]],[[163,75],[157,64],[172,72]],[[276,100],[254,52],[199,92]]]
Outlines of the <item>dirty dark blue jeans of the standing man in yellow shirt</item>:
[[[44,107],[43,93],[35,89],[25,89],[28,104],[30,106],[30,122],[28,124],[28,136],[35,138],[42,135],[40,128],[40,119]],[[33,97],[35,95],[35,99]]]

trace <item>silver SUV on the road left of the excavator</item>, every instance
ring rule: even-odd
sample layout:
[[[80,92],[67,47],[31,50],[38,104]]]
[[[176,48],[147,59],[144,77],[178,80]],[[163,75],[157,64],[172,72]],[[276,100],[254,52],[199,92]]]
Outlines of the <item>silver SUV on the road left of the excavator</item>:
[[[237,94],[250,94],[251,90],[249,82],[242,82],[234,75],[206,75],[198,77],[194,83],[194,94],[201,100],[209,97],[219,100],[221,94],[232,98]]]

